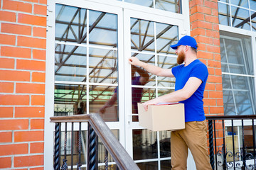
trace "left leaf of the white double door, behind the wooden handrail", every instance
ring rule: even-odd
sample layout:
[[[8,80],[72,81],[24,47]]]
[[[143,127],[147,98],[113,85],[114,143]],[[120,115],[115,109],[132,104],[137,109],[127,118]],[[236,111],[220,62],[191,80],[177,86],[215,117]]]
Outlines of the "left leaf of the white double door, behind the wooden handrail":
[[[54,116],[99,113],[124,145],[122,48],[122,8],[92,2],[79,4],[79,1],[55,4]],[[73,129],[68,127],[70,130]],[[67,135],[68,166],[70,148],[74,148],[74,155],[78,152],[78,125],[74,130],[73,137],[71,132]],[[82,166],[87,164],[86,132],[84,125]],[[64,135],[61,154],[64,153]],[[100,140],[98,162],[99,167],[105,162],[105,147]],[[111,157],[109,162],[114,164]]]

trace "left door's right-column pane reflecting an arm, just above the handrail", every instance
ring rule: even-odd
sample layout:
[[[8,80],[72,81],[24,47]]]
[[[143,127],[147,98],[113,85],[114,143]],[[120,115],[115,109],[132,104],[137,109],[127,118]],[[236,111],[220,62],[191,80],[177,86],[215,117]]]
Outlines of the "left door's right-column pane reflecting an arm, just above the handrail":
[[[97,85],[89,88],[89,113],[100,113],[107,122],[118,121],[118,88]]]

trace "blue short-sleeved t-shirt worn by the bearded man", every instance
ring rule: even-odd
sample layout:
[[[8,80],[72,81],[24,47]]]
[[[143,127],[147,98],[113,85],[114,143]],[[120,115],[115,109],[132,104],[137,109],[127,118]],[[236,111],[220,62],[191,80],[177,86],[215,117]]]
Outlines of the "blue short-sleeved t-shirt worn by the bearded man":
[[[198,87],[195,93],[185,101],[185,122],[203,121],[206,119],[203,111],[203,91],[206,87],[208,78],[208,69],[200,60],[194,60],[186,67],[184,64],[178,65],[171,69],[172,74],[176,78],[175,91],[183,89],[190,77],[196,77],[202,80],[202,84]]]

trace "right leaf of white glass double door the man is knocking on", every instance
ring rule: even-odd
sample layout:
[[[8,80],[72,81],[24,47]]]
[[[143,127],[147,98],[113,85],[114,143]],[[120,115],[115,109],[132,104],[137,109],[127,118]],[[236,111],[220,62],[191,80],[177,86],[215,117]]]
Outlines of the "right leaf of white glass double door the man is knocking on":
[[[124,10],[124,88],[126,147],[140,169],[171,169],[171,132],[152,132],[139,126],[137,102],[145,102],[174,91],[174,78],[157,77],[131,67],[130,56],[162,68],[176,66],[170,45],[183,33],[176,19]]]

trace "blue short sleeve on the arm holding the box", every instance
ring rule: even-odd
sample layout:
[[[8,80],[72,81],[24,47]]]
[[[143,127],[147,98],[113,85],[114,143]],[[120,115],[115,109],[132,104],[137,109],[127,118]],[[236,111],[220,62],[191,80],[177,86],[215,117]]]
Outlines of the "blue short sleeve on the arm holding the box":
[[[193,68],[190,77],[196,77],[201,79],[202,81],[206,81],[208,77],[208,69],[205,64],[197,64],[196,67]]]

